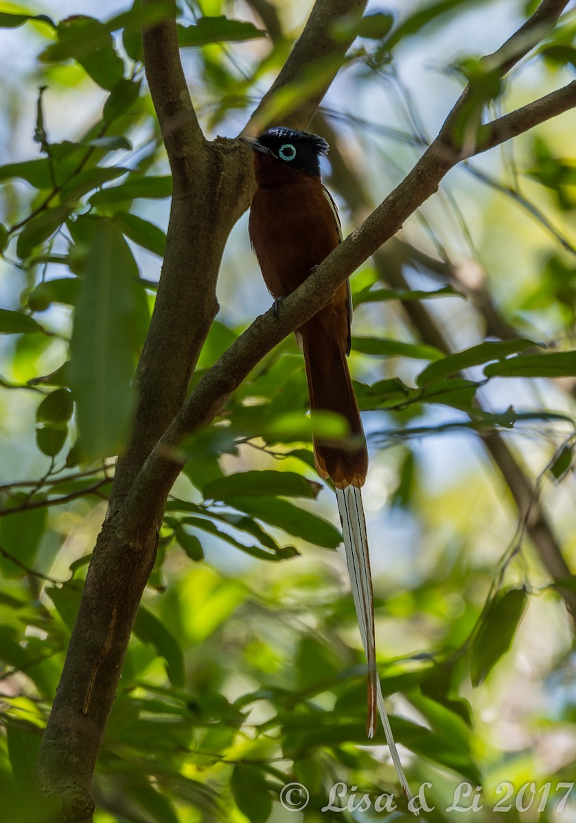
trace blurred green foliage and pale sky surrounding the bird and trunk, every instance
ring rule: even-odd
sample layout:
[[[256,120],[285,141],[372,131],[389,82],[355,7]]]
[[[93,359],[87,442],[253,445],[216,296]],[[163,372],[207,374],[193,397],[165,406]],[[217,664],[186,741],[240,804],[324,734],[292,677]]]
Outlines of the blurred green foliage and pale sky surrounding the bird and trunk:
[[[371,5],[341,22],[358,39],[324,116],[368,198],[410,169],[463,77],[474,105],[496,111],[571,79],[574,12],[512,80],[483,73],[475,55],[535,7],[486,5]],[[30,819],[35,753],[129,429],[171,195],[139,34],[166,7],[80,6],[97,17],[59,20],[56,0],[49,16],[0,4],[2,35],[30,55],[17,72],[2,62],[13,91],[0,104],[0,792],[11,821]],[[307,7],[181,3],[208,134],[239,131]],[[310,91],[316,68],[286,94]],[[452,174],[405,226],[410,289],[369,263],[352,282],[382,688],[400,695],[391,724],[427,821],[574,815],[576,657],[559,596],[574,579],[550,584],[479,445],[505,435],[574,568],[574,133],[565,115]],[[347,222],[354,203],[336,162],[333,173]],[[230,246],[198,374],[267,307],[246,230]],[[449,333],[453,354],[423,342],[410,303]],[[508,338],[490,331],[486,305]],[[182,444],[190,462],[105,732],[96,823],[408,819],[382,731],[367,745],[363,653],[306,412],[287,340]],[[330,417],[315,425],[345,435]],[[288,783],[308,793],[298,814],[286,807],[306,795]]]

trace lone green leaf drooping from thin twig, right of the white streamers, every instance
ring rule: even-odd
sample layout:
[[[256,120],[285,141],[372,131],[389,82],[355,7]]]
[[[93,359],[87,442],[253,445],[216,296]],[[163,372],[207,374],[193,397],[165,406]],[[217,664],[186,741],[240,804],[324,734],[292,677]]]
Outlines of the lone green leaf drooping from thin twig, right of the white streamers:
[[[510,588],[490,602],[471,650],[471,679],[480,686],[512,645],[527,603],[525,588]]]

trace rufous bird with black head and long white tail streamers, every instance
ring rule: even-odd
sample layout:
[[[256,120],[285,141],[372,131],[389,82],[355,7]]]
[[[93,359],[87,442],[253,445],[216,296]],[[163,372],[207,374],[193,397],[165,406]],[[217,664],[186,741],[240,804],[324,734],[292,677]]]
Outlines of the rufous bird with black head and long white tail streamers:
[[[334,199],[322,183],[323,137],[286,126],[259,137],[240,137],[253,150],[256,188],[248,232],[274,309],[311,275],[343,239]],[[386,714],[376,665],[372,575],[361,488],[368,473],[368,449],[350,376],[352,299],[349,280],[330,302],[297,329],[306,365],[311,415],[335,412],[349,425],[349,438],[335,443],[313,436],[316,471],[335,486],[358,626],[368,663],[368,737],[379,712],[400,785],[410,800]]]

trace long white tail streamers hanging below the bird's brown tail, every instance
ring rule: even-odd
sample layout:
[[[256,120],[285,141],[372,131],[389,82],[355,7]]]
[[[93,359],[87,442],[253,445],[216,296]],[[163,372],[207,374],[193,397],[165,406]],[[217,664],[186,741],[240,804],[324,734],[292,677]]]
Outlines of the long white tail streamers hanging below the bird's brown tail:
[[[366,520],[364,518],[364,507],[362,504],[362,493],[357,486],[346,486],[345,489],[336,489],[336,500],[338,500],[338,510],[342,522],[342,534],[344,536],[344,549],[346,551],[346,562],[352,585],[352,596],[358,617],[360,636],[364,644],[364,652],[368,661],[368,722],[366,724],[368,737],[373,737],[376,732],[376,712],[373,707],[373,695],[376,694],[378,713],[382,720],[382,727],[386,735],[386,743],[390,750],[392,762],[396,769],[396,774],[400,780],[400,786],[410,801],[412,793],[406,780],[400,756],[396,749],[396,742],[386,714],[384,705],[384,695],[380,677],[378,677],[376,667],[376,644],[374,638],[374,602],[372,597],[372,575],[370,574],[370,556],[368,553],[368,535],[366,533]],[[371,698],[372,693],[372,698]]]

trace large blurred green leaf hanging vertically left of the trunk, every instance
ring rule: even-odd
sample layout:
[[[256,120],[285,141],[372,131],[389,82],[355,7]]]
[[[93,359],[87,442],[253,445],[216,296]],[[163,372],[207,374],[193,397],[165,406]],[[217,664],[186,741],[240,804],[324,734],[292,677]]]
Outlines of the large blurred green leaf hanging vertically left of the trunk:
[[[70,386],[88,460],[122,450],[133,410],[138,267],[119,229],[101,220],[89,245],[70,342]]]

